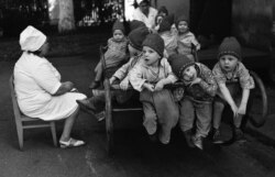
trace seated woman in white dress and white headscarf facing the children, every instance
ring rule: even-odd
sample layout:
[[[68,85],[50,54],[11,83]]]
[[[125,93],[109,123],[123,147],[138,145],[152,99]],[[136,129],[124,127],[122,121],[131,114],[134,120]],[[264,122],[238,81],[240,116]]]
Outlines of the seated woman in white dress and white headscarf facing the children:
[[[62,148],[84,145],[70,137],[78,115],[77,99],[86,96],[76,92],[70,81],[61,82],[61,74],[44,57],[48,52],[47,37],[33,26],[20,34],[23,54],[14,66],[14,90],[22,113],[44,121],[65,120],[59,144]]]

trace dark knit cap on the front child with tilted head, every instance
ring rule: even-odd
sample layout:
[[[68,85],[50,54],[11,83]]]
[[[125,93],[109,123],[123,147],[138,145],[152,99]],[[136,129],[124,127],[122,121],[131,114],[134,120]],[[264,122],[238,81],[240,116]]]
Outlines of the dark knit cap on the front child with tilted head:
[[[190,58],[188,58],[185,55],[182,54],[173,54],[168,57],[168,60],[170,63],[170,67],[173,73],[180,78],[183,71],[191,65],[195,65],[195,62]]]

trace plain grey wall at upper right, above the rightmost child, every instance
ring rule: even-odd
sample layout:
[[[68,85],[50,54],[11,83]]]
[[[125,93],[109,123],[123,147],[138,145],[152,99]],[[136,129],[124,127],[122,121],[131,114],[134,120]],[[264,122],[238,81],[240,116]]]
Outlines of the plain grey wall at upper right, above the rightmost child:
[[[248,46],[268,51],[272,38],[273,0],[233,0],[232,33]]]

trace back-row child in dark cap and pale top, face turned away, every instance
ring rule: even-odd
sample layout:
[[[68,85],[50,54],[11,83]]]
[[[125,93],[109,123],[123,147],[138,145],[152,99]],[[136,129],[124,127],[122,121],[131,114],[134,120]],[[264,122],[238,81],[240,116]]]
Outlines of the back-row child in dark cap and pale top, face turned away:
[[[173,24],[173,15],[165,16],[160,24],[158,34],[164,40],[165,51],[164,57],[168,58],[169,55],[176,53],[177,38],[176,35],[172,34],[170,27]]]

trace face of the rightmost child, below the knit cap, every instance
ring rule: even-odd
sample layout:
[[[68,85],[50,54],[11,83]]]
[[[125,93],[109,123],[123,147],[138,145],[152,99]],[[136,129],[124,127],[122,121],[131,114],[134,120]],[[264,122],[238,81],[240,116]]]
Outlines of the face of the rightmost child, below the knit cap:
[[[223,55],[219,59],[220,67],[226,71],[233,71],[238,62],[238,58],[232,55]]]

